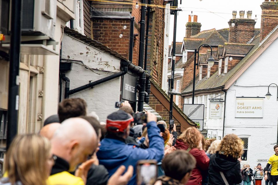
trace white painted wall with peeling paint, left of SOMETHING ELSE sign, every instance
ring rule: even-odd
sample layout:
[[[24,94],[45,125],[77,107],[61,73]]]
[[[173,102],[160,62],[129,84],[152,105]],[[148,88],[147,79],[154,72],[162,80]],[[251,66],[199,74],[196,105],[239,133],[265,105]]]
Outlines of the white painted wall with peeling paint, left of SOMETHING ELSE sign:
[[[106,71],[117,73],[120,71],[120,59],[110,56],[99,49],[96,49],[74,37],[64,34],[63,37],[63,58],[73,60],[81,60],[90,68],[98,68]],[[80,62],[79,62],[80,63]],[[66,77],[70,79],[70,90],[88,84],[90,81],[94,82],[98,79],[110,76],[114,73],[107,73],[102,71],[93,71],[86,69],[80,64],[72,64],[72,70],[67,71]],[[62,98],[64,97],[65,82],[63,83]],[[83,98],[87,102],[88,113],[96,112],[100,121],[106,122],[108,114],[116,111],[115,102],[120,101],[120,85],[121,78],[110,80],[103,84],[99,84],[94,88],[82,90],[70,98]]]

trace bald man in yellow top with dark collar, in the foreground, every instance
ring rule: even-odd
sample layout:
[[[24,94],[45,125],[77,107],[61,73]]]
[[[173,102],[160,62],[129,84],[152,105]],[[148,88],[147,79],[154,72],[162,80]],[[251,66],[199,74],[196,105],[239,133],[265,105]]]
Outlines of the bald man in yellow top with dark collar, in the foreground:
[[[57,160],[48,184],[84,185],[86,177],[81,179],[69,171],[74,171],[78,164],[85,162],[98,147],[98,138],[92,125],[82,118],[69,118],[56,130],[51,144]]]

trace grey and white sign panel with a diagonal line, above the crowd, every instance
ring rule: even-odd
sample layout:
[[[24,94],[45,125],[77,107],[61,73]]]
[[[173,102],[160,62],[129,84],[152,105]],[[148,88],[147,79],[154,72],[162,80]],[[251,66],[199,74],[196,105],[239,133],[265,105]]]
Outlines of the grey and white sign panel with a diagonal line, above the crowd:
[[[204,129],[204,104],[183,104],[183,113],[194,121],[199,130]]]

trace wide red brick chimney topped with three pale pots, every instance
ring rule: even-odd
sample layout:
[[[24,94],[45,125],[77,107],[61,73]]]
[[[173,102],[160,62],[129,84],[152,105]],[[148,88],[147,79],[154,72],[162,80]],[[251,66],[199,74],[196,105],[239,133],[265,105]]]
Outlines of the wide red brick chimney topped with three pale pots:
[[[228,42],[246,44],[255,34],[256,21],[251,18],[252,11],[247,12],[247,18],[244,18],[245,11],[239,11],[239,18],[236,18],[237,11],[233,11],[232,14],[233,18],[228,22]]]

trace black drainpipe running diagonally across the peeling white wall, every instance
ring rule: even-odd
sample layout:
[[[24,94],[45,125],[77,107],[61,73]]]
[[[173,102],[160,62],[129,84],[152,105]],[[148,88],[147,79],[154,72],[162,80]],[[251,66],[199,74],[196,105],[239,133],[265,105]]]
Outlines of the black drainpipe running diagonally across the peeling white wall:
[[[96,86],[96,85],[98,85],[98,84],[102,84],[102,83],[107,82],[107,81],[109,81],[109,80],[111,80],[111,79],[114,79],[114,78],[120,77],[120,76],[122,76],[122,75],[125,75],[125,74],[127,73],[127,71],[128,71],[128,64],[129,64],[129,62],[126,62],[126,61],[123,61],[123,60],[122,60],[122,61],[121,61],[121,65],[123,65],[123,71],[120,71],[119,73],[115,73],[115,74],[110,75],[110,76],[108,76],[108,77],[99,79],[99,80],[97,80],[97,81],[90,82],[89,84],[80,86],[80,87],[78,87],[78,88],[69,90],[67,96],[72,95],[72,94],[74,94],[74,93],[76,93],[76,92],[79,92],[79,91],[81,91],[81,90],[85,90],[85,89],[87,89],[87,88],[93,88],[94,86]]]

